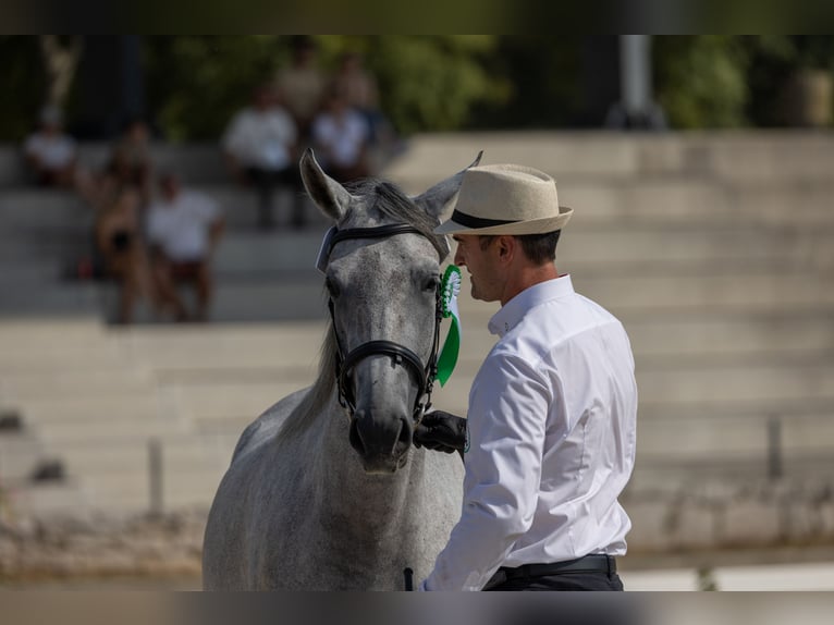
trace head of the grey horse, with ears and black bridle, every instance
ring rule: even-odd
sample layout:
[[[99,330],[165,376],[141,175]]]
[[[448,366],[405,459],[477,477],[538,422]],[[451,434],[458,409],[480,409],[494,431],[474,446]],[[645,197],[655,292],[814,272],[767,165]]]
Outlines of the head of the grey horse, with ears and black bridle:
[[[469,167],[479,160],[480,155]],[[321,269],[348,440],[367,473],[393,473],[408,459],[414,426],[431,392],[440,264],[449,254],[433,229],[463,171],[408,197],[376,180],[348,191],[322,171],[310,149],[301,169],[307,193],[335,224]]]

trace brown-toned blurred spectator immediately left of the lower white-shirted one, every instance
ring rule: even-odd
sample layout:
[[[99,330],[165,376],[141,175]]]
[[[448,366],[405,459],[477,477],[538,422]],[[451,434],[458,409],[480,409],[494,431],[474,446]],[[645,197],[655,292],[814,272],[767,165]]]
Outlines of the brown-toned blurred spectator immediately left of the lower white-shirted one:
[[[119,282],[120,323],[133,320],[139,297],[154,302],[145,247],[142,243],[139,193],[132,186],[113,188],[96,217],[95,238],[107,275]]]

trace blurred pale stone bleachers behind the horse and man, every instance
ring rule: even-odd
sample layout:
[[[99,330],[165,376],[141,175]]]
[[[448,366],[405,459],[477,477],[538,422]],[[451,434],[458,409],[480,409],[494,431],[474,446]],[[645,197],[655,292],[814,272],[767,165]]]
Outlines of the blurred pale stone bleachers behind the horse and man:
[[[101,158],[100,146],[86,149],[89,162]],[[213,146],[158,149],[229,217],[214,323],[160,323],[144,311],[134,327],[103,324],[112,285],[61,277],[88,245],[89,209],[0,175],[0,408],[25,422],[0,433],[0,480],[15,486],[21,511],[146,510],[151,439],[164,450],[165,507],[207,507],[245,425],[315,376],[323,217],[259,232],[254,198],[231,184]],[[832,137],[439,134],[413,138],[383,174],[418,193],[480,149],[485,163],[552,173],[576,210],[557,266],[624,321],[636,354],[633,488],[765,477],[774,418],[786,474],[830,475]],[[496,309],[473,302],[466,282],[464,293],[461,361],[434,397],[458,413]],[[64,461],[68,481],[28,483],[33,463],[49,457]]]

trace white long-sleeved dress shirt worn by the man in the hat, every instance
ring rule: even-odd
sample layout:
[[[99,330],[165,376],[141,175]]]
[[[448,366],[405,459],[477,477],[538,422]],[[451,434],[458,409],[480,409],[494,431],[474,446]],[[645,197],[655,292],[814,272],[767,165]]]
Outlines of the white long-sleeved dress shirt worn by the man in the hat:
[[[469,393],[463,512],[425,590],[626,551],[617,497],[634,467],[637,385],[622,323],[563,275],[516,295],[489,329],[500,339]]]

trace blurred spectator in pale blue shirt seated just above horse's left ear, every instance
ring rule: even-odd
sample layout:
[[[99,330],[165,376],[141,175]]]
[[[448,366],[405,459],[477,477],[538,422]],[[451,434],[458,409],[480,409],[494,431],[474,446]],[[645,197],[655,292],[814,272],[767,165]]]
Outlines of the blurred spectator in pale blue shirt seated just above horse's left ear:
[[[339,182],[370,175],[368,122],[347,105],[344,90],[334,85],[324,109],[312,123],[312,144],[324,171]]]

